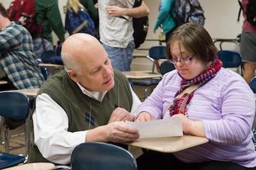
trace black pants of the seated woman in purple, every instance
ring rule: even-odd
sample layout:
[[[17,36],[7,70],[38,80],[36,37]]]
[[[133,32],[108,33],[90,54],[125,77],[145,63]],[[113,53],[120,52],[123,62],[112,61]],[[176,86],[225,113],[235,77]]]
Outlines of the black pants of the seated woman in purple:
[[[256,170],[255,168],[246,168],[236,163],[210,161],[205,163],[182,163],[175,158],[173,154],[146,151],[143,155],[137,158],[137,165],[139,170],[153,170],[153,169],[196,169],[196,170]]]

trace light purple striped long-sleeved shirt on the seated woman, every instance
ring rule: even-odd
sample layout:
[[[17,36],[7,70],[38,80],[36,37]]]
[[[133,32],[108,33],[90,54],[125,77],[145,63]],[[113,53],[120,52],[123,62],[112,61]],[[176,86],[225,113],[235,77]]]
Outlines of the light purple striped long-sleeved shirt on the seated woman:
[[[165,74],[136,113],[145,111],[155,119],[169,118],[165,108],[180,89],[181,80],[176,70]],[[220,160],[256,167],[251,131],[255,97],[238,73],[221,68],[210,82],[195,90],[187,109],[190,120],[203,121],[209,142],[176,152],[177,158],[185,163]]]

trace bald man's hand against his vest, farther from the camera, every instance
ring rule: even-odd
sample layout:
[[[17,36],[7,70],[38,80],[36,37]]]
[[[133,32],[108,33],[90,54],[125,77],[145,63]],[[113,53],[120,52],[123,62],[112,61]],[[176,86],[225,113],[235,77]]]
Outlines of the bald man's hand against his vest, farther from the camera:
[[[128,112],[126,109],[122,107],[117,107],[111,114],[108,124],[111,122],[125,121],[125,120],[134,121],[134,116],[130,114],[130,112]]]

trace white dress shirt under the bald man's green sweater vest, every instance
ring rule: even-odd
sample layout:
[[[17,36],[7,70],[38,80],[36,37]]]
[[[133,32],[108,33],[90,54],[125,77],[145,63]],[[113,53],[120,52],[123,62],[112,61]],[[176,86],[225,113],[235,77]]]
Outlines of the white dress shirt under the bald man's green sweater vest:
[[[98,101],[102,101],[106,92],[89,92],[80,84],[81,91]],[[131,113],[141,104],[141,101],[132,92]],[[33,131],[35,145],[42,156],[52,163],[66,165],[70,163],[72,151],[80,143],[86,141],[87,131],[68,131],[68,115],[49,95],[42,93],[35,100],[33,112]]]

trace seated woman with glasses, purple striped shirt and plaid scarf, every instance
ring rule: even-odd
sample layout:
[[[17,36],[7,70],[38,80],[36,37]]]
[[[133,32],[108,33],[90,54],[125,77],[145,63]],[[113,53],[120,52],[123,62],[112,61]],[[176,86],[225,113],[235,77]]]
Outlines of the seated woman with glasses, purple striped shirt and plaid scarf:
[[[184,134],[209,142],[174,154],[147,151],[137,159],[139,169],[256,169],[253,92],[238,73],[221,67],[209,33],[183,24],[171,34],[166,53],[175,70],[140,105],[136,121],[177,116]]]

